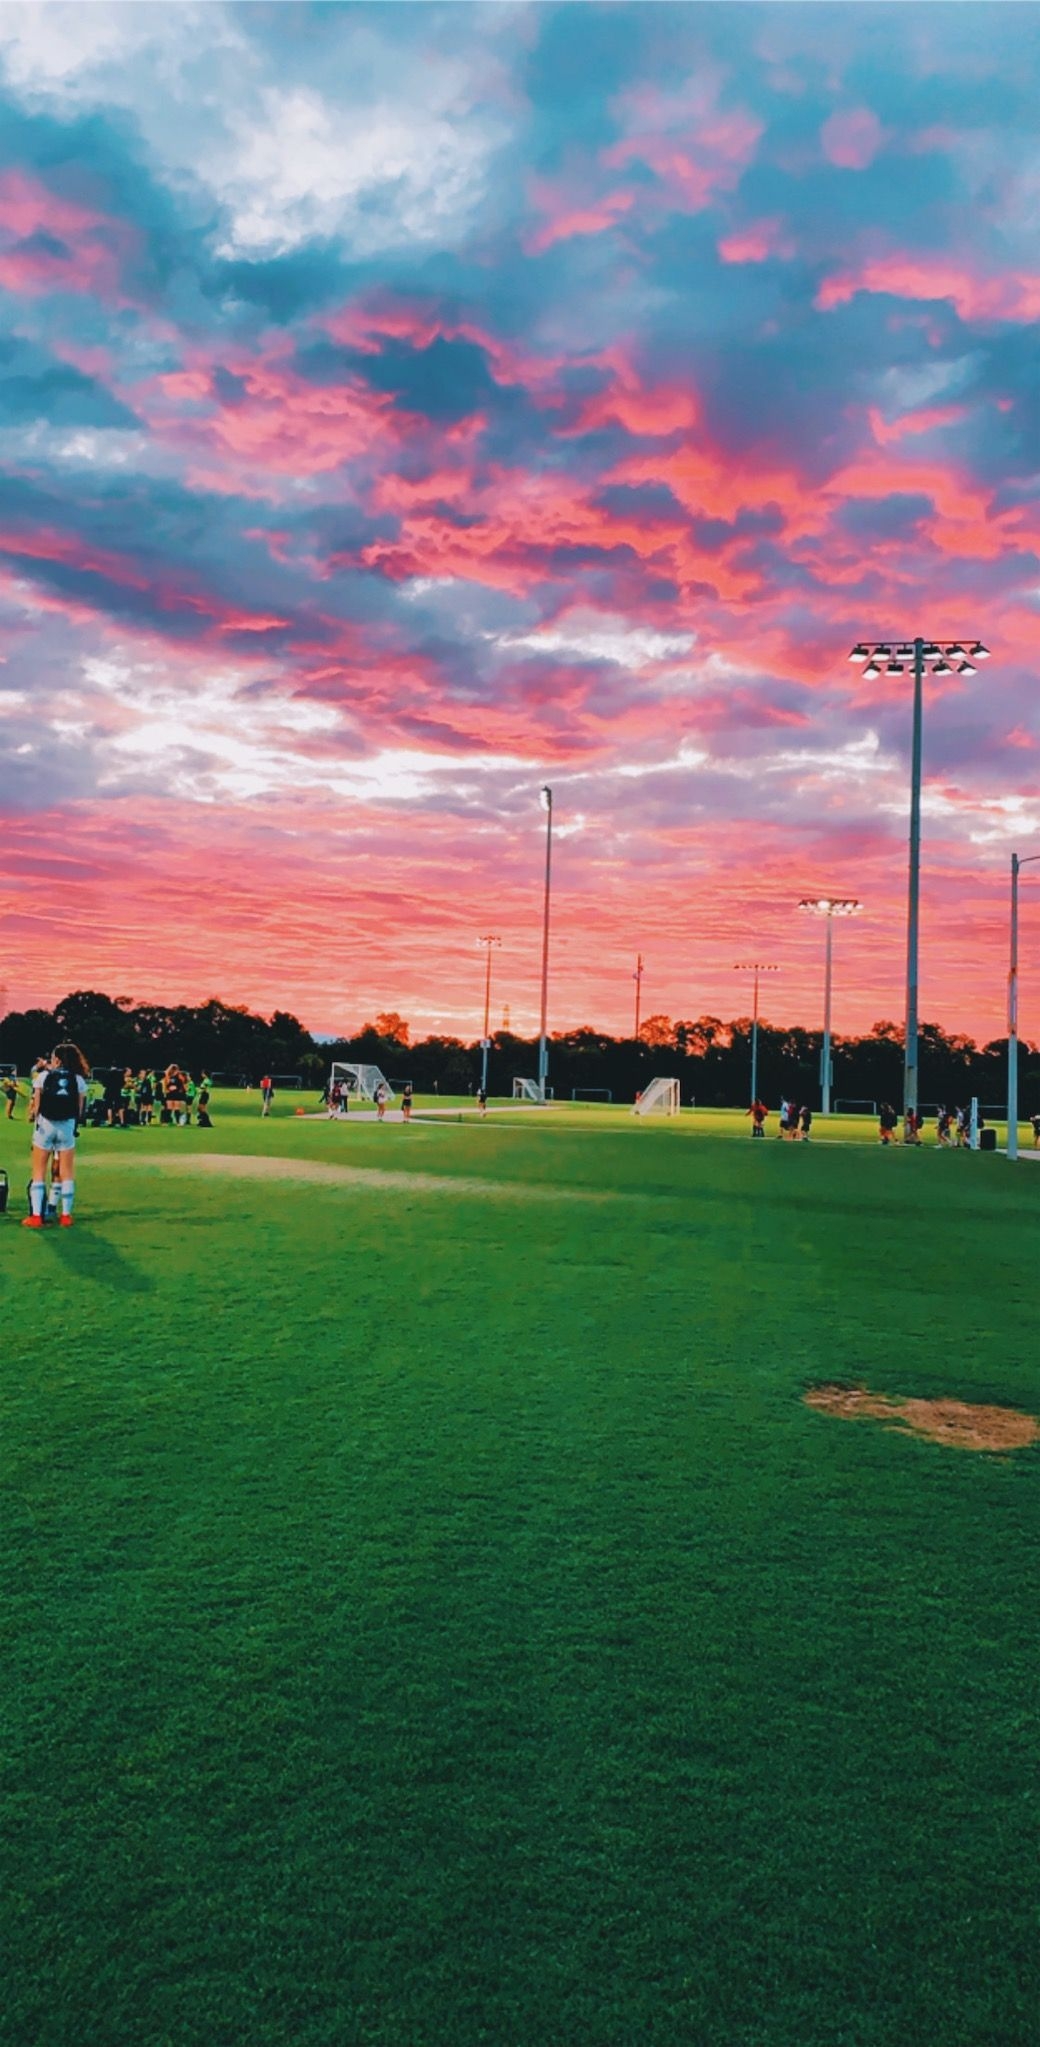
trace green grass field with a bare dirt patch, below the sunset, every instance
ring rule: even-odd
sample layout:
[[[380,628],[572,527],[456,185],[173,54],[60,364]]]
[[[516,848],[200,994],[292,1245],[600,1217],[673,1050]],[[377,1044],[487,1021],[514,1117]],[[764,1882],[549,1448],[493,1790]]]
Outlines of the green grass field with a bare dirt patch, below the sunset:
[[[1036,2047],[1040,1169],[293,1107],[0,1124],[4,2047]]]

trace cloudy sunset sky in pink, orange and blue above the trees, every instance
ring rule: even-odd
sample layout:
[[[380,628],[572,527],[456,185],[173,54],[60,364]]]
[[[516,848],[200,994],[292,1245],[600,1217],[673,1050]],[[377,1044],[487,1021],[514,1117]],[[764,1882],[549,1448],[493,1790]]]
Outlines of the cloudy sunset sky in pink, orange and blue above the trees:
[[[1005,1028],[1032,6],[0,0],[0,1011]],[[1022,1030],[1040,1038],[1040,864]],[[1034,907],[1036,901],[1036,907]],[[1034,966],[1034,962],[1038,962]]]

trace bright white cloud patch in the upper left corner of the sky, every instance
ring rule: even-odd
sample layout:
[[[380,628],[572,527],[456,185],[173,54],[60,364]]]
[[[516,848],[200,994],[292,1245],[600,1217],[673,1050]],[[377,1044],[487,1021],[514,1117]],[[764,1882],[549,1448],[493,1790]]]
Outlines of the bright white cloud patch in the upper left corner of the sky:
[[[0,68],[29,102],[127,108],[158,174],[205,188],[225,256],[459,239],[510,123],[487,47],[422,47],[346,8],[305,37],[293,12],[252,33],[248,8],[0,0]]]

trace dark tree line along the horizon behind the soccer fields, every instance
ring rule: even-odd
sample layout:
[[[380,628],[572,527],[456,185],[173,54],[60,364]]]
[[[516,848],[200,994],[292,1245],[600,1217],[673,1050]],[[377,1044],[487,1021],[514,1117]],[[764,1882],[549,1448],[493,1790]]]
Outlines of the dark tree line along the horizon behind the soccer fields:
[[[217,1085],[256,1083],[260,1075],[299,1075],[321,1087],[330,1060],[350,1058],[381,1066],[387,1079],[411,1081],[418,1093],[469,1093],[481,1073],[479,1040],[411,1038],[397,1011],[383,1011],[352,1038],[315,1040],[287,1009],[262,1017],[235,1003],[211,999],[197,1007],[139,1003],[129,995],[80,989],[53,1009],[12,1011],[0,1024],[0,1062],[29,1073],[35,1058],[59,1038],[80,1044],[94,1066],[168,1066],[211,1073]],[[893,1101],[903,1095],[903,1030],[880,1021],[862,1038],[833,1038],[835,1101]],[[757,1091],[768,1103],[780,1095],[819,1101],[821,1032],[798,1026],[757,1028]],[[1007,1040],[979,1046],[972,1038],[921,1024],[921,1101],[962,1103],[972,1095],[985,1105],[1007,1101]],[[510,1095],[514,1077],[534,1079],[538,1040],[495,1032],[489,1050],[489,1089]],[[743,1107],[751,1083],[751,1019],[651,1015],[639,1038],[612,1038],[583,1028],[553,1032],[549,1083],[557,1099],[571,1089],[604,1089],[631,1101],[655,1075],[682,1085],[682,1099]],[[1040,1109],[1040,1048],[1022,1046],[1022,1109]]]

